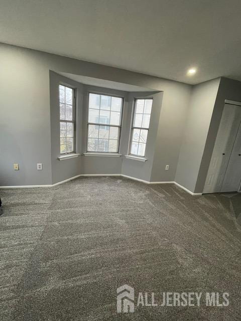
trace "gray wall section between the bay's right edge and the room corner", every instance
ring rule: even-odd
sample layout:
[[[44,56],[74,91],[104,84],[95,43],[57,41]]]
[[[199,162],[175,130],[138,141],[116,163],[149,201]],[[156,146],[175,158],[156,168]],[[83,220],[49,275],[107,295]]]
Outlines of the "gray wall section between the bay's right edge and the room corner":
[[[187,117],[191,88],[173,83],[164,90],[159,127],[155,140],[155,154],[151,174],[152,182],[173,182],[175,180],[178,156]],[[166,171],[166,165],[169,170]]]

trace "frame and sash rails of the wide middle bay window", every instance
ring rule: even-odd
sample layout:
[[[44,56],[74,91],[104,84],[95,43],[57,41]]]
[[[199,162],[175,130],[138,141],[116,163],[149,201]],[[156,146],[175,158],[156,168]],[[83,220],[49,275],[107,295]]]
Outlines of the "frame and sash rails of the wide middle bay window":
[[[100,95],[100,96],[108,96],[108,97],[117,97],[122,99],[122,108],[121,108],[121,116],[120,116],[120,124],[119,125],[110,125],[106,123],[95,123],[95,122],[89,122],[89,94],[95,94],[95,95]],[[123,124],[123,114],[124,114],[124,104],[125,104],[125,97],[121,95],[115,95],[115,94],[109,94],[106,92],[98,92],[98,91],[88,91],[88,98],[87,98],[87,131],[86,131],[86,153],[105,153],[106,155],[108,154],[118,154],[119,153],[119,148],[121,146],[121,134],[122,134],[122,124]],[[107,126],[107,127],[117,127],[119,128],[119,134],[118,134],[118,147],[117,151],[92,151],[88,150],[88,132],[89,132],[89,125],[97,125],[97,126]]]

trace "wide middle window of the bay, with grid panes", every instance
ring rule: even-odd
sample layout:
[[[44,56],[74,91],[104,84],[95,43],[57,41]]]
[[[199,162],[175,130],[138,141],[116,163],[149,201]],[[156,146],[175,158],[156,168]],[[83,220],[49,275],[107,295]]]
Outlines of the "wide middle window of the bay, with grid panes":
[[[87,151],[118,152],[123,98],[89,93]]]

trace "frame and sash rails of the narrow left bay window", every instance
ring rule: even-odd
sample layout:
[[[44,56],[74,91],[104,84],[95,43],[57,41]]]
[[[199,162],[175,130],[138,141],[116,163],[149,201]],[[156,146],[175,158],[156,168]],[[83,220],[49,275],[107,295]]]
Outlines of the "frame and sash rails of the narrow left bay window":
[[[58,85],[58,90],[59,90],[59,86],[64,86],[67,88],[72,89],[72,120],[65,120],[65,119],[60,119],[60,95],[58,95],[59,97],[59,142],[60,142],[60,123],[61,122],[66,122],[66,123],[72,123],[73,124],[73,150],[72,151],[67,151],[67,152],[61,152],[60,151],[60,155],[68,155],[68,154],[73,154],[76,153],[76,88],[60,82]],[[59,93],[59,91],[58,91]],[[66,104],[65,104],[66,105]],[[61,144],[59,144],[59,147],[61,146]]]

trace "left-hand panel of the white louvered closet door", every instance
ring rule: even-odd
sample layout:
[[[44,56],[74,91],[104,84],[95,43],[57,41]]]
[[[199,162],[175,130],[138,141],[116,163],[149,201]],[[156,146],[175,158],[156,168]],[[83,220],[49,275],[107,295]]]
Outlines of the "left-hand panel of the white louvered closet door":
[[[240,121],[240,106],[225,104],[203,193],[221,192]]]

